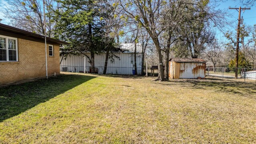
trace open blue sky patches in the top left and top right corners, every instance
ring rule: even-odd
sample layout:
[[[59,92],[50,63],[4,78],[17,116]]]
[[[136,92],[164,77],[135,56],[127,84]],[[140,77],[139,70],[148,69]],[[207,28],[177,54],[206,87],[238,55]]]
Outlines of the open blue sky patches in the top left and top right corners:
[[[224,0],[225,1],[225,0]],[[7,18],[4,18],[4,7],[7,6],[6,0],[0,0],[0,19],[2,20],[2,24],[8,24],[10,20]],[[216,9],[221,10],[227,10],[227,12],[232,14],[232,17],[228,17],[228,20],[230,20],[231,23],[234,23],[234,27],[230,27],[227,30],[234,31],[236,33],[236,26],[238,22],[238,11],[236,10],[229,10],[229,6],[231,8],[239,8],[241,6],[242,8],[246,7],[241,4],[240,0],[226,0],[225,2],[220,2],[219,6]],[[244,18],[244,24],[253,26],[256,24],[256,7],[252,6],[251,10],[245,10],[244,12],[241,12],[241,16]],[[217,28],[216,31],[216,39],[218,39],[220,42],[227,41],[227,39],[224,37],[224,34],[220,32]]]

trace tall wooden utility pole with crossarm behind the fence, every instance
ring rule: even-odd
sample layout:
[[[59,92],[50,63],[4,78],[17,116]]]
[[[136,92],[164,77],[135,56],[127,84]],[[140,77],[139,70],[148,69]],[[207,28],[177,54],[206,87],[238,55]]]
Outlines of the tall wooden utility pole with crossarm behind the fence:
[[[251,8],[230,8],[232,10],[238,10],[238,25],[237,25],[237,36],[236,36],[236,68],[235,68],[235,79],[237,79],[238,76],[238,53],[239,53],[239,35],[240,35],[240,16],[241,16],[241,10],[250,10]]]

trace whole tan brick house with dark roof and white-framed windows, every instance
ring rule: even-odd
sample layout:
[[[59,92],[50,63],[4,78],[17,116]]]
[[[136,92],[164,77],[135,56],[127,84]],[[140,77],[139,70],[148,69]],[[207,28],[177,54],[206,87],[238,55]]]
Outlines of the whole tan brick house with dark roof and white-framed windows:
[[[60,73],[60,45],[47,37],[48,75]],[[0,24],[0,85],[46,77],[44,36]]]

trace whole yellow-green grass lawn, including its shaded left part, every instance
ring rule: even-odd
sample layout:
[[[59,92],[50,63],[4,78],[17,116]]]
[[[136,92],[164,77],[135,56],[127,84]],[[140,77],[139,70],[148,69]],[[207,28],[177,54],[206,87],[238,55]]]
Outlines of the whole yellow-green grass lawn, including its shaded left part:
[[[256,85],[65,73],[0,87],[0,143],[256,143]]]

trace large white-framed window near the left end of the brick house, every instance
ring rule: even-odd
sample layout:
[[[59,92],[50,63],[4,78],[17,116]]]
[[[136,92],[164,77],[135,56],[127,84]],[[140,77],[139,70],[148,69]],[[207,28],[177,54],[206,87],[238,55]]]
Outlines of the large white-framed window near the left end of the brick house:
[[[0,61],[18,61],[17,38],[0,36]]]

